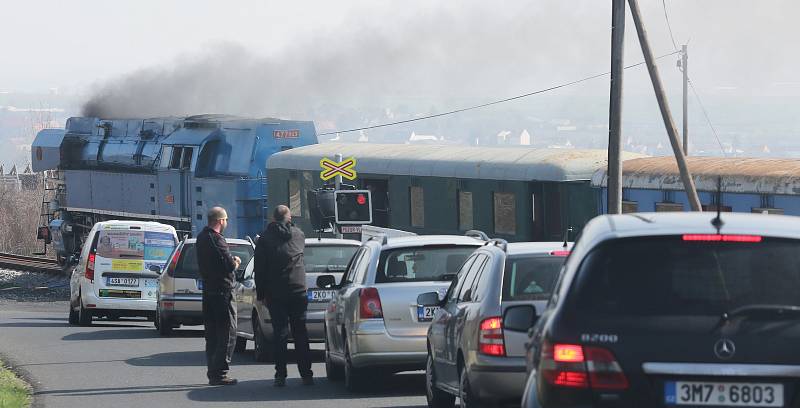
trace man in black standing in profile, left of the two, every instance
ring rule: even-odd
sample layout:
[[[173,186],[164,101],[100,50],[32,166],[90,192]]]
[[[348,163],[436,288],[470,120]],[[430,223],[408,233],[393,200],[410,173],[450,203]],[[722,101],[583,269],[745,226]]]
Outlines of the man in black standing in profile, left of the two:
[[[242,262],[231,256],[222,232],[228,213],[222,207],[208,210],[208,225],[197,234],[197,264],[203,278],[203,321],[206,326],[206,363],[209,385],[234,385],[228,377],[236,345],[236,305],[233,288],[236,269]]]

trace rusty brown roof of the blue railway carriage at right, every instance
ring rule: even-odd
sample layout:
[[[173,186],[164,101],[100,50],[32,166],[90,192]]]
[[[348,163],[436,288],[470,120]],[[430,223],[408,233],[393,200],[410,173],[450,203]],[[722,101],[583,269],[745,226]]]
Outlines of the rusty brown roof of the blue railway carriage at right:
[[[716,191],[722,176],[727,193],[800,194],[800,159],[742,157],[687,157],[695,186]],[[607,184],[605,169],[592,177],[593,186]],[[683,190],[678,166],[672,156],[644,157],[623,164],[623,188]]]

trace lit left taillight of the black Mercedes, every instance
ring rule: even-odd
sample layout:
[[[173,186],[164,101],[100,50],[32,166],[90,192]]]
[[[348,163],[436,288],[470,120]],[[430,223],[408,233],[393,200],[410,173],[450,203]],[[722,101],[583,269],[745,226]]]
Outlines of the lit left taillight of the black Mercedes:
[[[541,358],[542,376],[558,387],[624,390],[628,379],[610,351],[577,344],[545,344]]]

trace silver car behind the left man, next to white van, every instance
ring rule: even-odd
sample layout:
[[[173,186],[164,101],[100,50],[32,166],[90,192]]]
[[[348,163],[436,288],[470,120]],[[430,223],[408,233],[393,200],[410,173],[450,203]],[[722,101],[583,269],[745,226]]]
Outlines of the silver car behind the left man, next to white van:
[[[185,239],[169,256],[158,278],[155,326],[167,336],[181,325],[203,324],[203,288],[194,238]],[[227,239],[231,254],[242,259],[237,277],[247,274],[253,265],[253,244],[243,239]],[[242,345],[240,344],[241,348]]]

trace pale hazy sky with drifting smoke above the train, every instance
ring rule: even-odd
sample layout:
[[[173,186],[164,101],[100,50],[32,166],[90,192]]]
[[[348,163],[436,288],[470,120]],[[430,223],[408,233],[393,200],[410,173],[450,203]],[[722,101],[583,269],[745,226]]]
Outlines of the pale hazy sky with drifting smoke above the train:
[[[640,4],[655,53],[672,51],[662,0]],[[58,87],[88,98],[137,89],[158,98],[157,88],[180,83],[195,99],[243,94],[246,103],[270,91],[271,104],[381,93],[505,97],[608,70],[610,5],[5,0],[0,91]],[[690,75],[703,92],[800,95],[799,1],[666,6],[678,46],[689,41]],[[625,53],[626,63],[641,60],[630,16]],[[678,90],[674,58],[661,66],[667,87]],[[644,69],[630,70],[625,92],[652,92],[646,78]],[[608,84],[564,92],[607,94]]]

